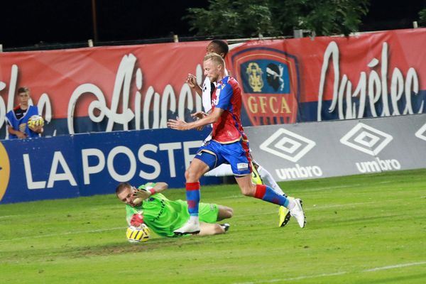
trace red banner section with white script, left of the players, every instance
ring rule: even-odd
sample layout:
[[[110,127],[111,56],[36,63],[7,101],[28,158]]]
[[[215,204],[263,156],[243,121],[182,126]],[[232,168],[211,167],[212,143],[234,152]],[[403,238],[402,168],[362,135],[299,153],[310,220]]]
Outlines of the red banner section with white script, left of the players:
[[[67,119],[70,133],[75,132],[73,118],[82,116],[94,122],[106,119],[104,131],[114,124],[129,129],[130,121],[136,129],[165,127],[168,111],[183,114],[185,109],[201,108],[185,80],[191,72],[202,83],[207,44],[0,53],[0,127],[23,85],[31,89],[33,104],[45,119]],[[153,117],[139,115],[150,111]]]

